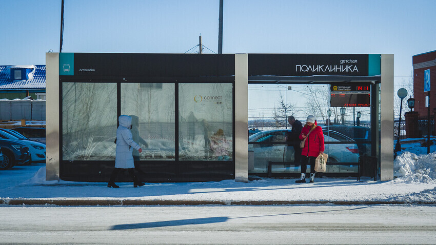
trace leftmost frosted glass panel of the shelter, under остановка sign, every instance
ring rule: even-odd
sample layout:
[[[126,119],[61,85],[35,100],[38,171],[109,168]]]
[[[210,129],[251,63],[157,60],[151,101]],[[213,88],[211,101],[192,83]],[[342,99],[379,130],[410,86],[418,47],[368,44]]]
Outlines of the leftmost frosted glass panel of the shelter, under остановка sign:
[[[63,160],[114,160],[116,84],[62,84]]]

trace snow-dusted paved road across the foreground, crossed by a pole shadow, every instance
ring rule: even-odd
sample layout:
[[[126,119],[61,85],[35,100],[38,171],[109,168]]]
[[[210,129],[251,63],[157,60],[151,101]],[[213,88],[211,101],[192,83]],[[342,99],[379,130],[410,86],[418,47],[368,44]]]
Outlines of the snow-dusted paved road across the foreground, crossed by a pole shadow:
[[[3,206],[0,224],[1,244],[436,243],[436,206]]]

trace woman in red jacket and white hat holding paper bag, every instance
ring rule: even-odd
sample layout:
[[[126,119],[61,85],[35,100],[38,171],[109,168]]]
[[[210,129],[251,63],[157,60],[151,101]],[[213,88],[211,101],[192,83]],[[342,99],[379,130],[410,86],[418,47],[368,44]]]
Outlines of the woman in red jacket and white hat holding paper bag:
[[[309,133],[310,132],[310,133]],[[316,125],[315,117],[307,116],[306,125],[300,134],[300,139],[304,142],[304,148],[301,151],[301,177],[296,183],[306,183],[307,164],[310,163],[310,183],[315,178],[315,158],[324,152],[324,134],[321,127]]]

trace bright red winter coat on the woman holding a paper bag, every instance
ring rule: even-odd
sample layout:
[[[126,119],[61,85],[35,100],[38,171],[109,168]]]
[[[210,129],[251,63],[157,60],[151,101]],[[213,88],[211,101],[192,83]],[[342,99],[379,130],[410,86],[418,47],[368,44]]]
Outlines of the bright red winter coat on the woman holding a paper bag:
[[[316,121],[315,121],[316,125]],[[310,131],[309,125],[305,125],[300,134],[300,139],[303,140],[302,134],[307,135]],[[306,142],[304,142],[304,148],[301,151],[302,156],[314,156],[320,155],[320,152],[324,152],[324,134],[321,127],[316,126],[316,128],[310,132],[309,136],[306,137]]]

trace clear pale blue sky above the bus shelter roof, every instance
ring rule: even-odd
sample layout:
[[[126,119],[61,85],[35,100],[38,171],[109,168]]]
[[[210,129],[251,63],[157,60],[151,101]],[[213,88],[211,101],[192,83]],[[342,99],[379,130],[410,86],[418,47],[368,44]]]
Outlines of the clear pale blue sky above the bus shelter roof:
[[[0,6],[0,65],[59,52],[61,0]],[[412,56],[436,50],[435,10],[433,0],[224,0],[223,53],[394,54],[397,91]],[[217,52],[218,14],[219,0],[65,0],[63,52],[185,53],[200,33]]]

